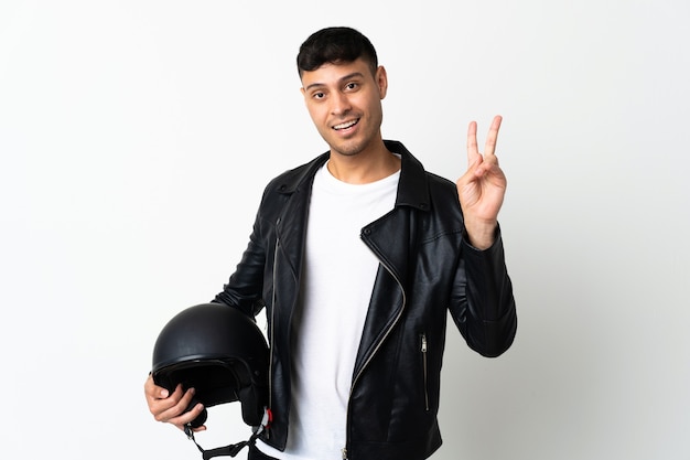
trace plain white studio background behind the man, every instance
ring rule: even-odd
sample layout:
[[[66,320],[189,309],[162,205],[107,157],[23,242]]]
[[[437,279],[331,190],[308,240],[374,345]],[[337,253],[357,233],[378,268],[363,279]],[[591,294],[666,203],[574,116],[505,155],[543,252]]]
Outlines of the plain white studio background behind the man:
[[[384,136],[449,179],[505,118],[515,345],[449,331],[434,459],[690,459],[690,3],[0,3],[0,458],[196,459],[153,342],[233,272],[267,181],[325,150],[294,57],[362,30]],[[246,439],[236,405],[197,440]],[[216,410],[215,413],[213,410]],[[244,458],[245,453],[240,454]]]

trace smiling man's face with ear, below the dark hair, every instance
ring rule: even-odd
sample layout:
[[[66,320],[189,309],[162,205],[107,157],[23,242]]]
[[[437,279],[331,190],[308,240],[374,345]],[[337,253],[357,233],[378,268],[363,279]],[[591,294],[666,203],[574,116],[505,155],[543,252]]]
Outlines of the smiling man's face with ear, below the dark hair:
[[[380,143],[386,69],[375,75],[365,61],[324,64],[302,74],[309,115],[333,153],[354,156]]]

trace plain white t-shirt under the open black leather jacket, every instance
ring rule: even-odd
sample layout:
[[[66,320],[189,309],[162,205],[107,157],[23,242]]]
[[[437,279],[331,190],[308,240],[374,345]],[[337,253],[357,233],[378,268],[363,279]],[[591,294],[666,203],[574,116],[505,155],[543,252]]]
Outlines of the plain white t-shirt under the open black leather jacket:
[[[339,459],[345,447],[353,370],[378,259],[362,228],[393,208],[400,171],[367,184],[314,176],[306,231],[300,311],[293,324],[292,408],[284,460]]]

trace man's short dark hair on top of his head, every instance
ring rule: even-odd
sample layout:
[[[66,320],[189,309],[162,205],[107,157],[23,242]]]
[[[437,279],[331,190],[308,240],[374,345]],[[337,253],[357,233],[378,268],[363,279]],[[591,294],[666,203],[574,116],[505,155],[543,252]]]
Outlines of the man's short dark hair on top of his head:
[[[362,57],[376,74],[378,57],[374,45],[364,34],[352,28],[325,28],[314,32],[302,43],[298,54],[298,72],[315,71],[324,64],[349,63]]]

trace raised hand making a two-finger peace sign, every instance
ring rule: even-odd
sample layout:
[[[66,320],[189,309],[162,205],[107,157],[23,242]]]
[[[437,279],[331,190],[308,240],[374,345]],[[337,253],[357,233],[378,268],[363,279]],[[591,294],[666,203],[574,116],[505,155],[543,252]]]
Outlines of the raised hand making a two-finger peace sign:
[[[506,175],[498,167],[496,141],[503,118],[497,115],[486,137],[484,154],[477,148],[477,124],[467,128],[467,171],[456,182],[470,243],[485,249],[494,242],[498,212],[506,194]]]

